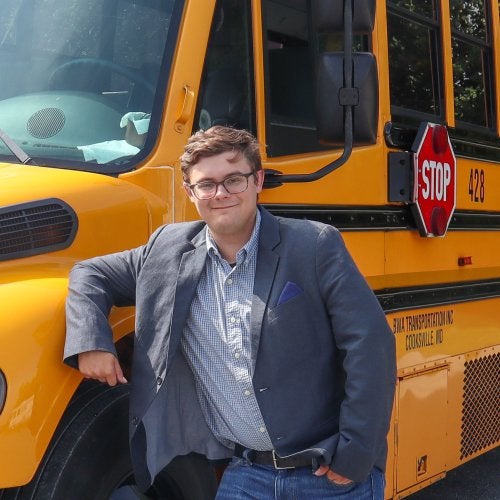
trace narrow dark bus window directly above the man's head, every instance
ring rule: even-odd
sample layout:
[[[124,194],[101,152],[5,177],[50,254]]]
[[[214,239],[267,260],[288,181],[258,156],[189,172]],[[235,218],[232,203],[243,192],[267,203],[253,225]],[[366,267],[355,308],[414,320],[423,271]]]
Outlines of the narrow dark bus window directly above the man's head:
[[[248,0],[219,0],[203,70],[194,129],[213,125],[256,134]]]

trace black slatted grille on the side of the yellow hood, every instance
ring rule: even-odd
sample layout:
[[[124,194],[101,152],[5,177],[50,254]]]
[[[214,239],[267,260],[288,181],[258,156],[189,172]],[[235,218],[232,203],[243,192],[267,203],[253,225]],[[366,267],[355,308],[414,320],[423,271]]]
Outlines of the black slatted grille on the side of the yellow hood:
[[[78,221],[61,200],[40,200],[0,209],[0,260],[27,257],[71,245]]]

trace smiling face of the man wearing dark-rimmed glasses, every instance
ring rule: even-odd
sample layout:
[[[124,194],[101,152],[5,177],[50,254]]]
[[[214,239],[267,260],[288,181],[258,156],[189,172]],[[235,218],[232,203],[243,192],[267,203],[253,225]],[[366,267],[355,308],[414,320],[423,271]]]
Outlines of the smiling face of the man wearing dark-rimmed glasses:
[[[188,184],[200,182],[222,182],[235,174],[248,174],[252,168],[243,155],[237,161],[235,153],[228,151],[208,158],[202,158],[191,167]],[[200,217],[208,224],[215,238],[242,239],[243,244],[251,235],[257,209],[257,195],[262,191],[264,172],[256,172],[257,179],[248,178],[248,188],[237,194],[230,194],[221,184],[213,198],[199,200],[193,191],[184,185],[189,199],[195,204]],[[246,238],[246,239],[245,239]]]

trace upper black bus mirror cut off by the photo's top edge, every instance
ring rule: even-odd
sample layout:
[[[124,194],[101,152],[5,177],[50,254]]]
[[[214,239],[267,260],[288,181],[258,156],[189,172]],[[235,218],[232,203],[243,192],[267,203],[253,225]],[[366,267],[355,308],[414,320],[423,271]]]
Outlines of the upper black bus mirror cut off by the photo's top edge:
[[[375,24],[375,0],[355,0],[352,4],[352,31],[371,33]],[[345,29],[344,0],[312,0],[312,15],[318,32]]]

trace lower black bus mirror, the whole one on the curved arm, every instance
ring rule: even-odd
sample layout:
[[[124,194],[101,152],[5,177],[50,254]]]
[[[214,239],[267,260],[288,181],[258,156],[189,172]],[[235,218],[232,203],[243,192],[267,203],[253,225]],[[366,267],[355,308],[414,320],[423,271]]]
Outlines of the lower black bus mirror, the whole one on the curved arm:
[[[345,142],[344,106],[353,106],[354,144],[374,144],[378,125],[378,76],[373,54],[356,52],[353,57],[353,88],[344,88],[344,54],[319,54],[316,82],[316,118],[319,141]]]

